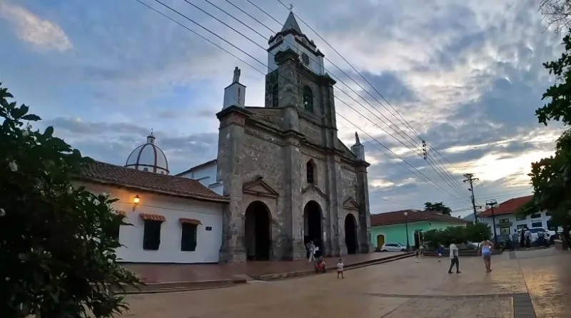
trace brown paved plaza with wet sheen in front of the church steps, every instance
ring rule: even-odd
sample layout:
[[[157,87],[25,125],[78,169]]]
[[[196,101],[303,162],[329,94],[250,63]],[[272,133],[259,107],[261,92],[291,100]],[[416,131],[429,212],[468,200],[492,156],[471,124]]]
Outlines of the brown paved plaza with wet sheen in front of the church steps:
[[[128,296],[125,317],[571,317],[571,255],[555,249],[505,252],[490,274],[480,257],[415,257],[345,272],[223,289]],[[535,308],[535,314],[534,309]]]

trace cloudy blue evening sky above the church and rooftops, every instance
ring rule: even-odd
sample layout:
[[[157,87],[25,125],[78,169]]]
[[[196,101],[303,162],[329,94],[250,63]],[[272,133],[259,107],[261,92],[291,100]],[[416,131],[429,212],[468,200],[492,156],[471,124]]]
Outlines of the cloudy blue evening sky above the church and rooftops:
[[[163,0],[248,56],[157,1],[141,1],[258,71],[136,0],[0,0],[0,82],[43,118],[36,128],[53,125],[96,160],[124,165],[152,128],[179,173],[216,158],[216,113],[235,66],[246,105],[263,106],[263,48],[288,9],[278,0]],[[467,215],[465,173],[479,178],[478,205],[532,193],[530,163],[551,155],[561,133],[535,118],[553,83],[542,63],[563,51],[538,1],[289,2],[338,80],[340,140],[352,145],[357,131],[365,145],[371,213],[443,202]]]

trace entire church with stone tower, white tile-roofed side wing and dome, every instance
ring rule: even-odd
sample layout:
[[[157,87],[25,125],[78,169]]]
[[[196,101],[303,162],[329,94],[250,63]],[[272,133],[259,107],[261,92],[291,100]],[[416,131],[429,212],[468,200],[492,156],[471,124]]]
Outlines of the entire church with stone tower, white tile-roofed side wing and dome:
[[[95,163],[79,185],[118,198],[123,262],[298,260],[371,251],[365,148],[338,139],[323,53],[290,12],[268,41],[265,106],[246,106],[241,70],[224,90],[218,156],[171,175],[151,133],[123,167]]]

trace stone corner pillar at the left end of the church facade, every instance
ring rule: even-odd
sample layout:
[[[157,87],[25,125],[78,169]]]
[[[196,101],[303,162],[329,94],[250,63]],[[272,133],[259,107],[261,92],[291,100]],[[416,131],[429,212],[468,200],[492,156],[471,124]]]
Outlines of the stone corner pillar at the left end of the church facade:
[[[244,125],[249,112],[237,106],[225,108],[216,114],[218,129],[218,172],[216,181],[222,182],[224,195],[230,203],[223,210],[221,262],[246,261],[243,186]]]

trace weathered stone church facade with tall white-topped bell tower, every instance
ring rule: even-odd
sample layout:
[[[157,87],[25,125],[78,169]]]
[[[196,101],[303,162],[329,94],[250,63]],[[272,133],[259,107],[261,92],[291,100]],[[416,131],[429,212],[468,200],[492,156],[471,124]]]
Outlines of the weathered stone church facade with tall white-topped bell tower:
[[[338,139],[323,53],[291,13],[268,44],[265,107],[244,105],[236,68],[216,114],[221,261],[300,259],[309,240],[324,256],[370,252],[369,164],[356,133]]]

